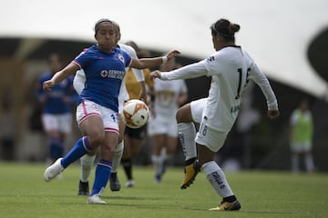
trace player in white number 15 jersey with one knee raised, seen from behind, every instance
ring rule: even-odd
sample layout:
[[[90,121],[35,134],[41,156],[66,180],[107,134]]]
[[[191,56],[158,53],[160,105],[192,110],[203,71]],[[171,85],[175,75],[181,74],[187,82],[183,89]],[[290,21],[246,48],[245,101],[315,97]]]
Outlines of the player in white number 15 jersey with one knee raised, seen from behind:
[[[190,64],[171,72],[156,71],[150,76],[162,80],[187,79],[201,75],[211,76],[208,98],[191,104],[195,109],[200,106],[198,103],[203,104],[200,106],[202,109],[191,111],[189,104],[183,107],[186,114],[182,116],[186,119],[178,117],[179,138],[186,155],[186,173],[181,188],[187,188],[194,181],[201,166],[214,190],[223,198],[219,206],[210,210],[240,210],[241,204],[232,193],[225,174],[214,161],[214,156],[224,144],[227,134],[236,121],[242,93],[250,79],[261,87],[267,100],[268,116],[270,118],[277,117],[279,110],[276,96],[266,76],[254,63],[251,56],[243,51],[241,46],[235,45],[234,34],[240,30],[240,25],[220,19],[210,26],[210,30],[216,51],[214,54],[199,63]],[[200,113],[200,130],[195,136],[192,135],[195,134],[195,127],[190,118],[199,117]],[[179,114],[181,112],[177,115]],[[198,145],[198,155],[194,139]]]

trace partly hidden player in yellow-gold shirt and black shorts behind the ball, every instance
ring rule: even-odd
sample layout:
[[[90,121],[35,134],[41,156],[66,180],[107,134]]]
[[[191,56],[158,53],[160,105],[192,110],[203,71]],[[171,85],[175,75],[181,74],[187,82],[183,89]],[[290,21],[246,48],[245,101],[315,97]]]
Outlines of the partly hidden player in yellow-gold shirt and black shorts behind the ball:
[[[135,49],[139,58],[148,57],[149,54],[146,54],[146,51],[140,50],[138,45],[129,41],[126,43]],[[147,93],[152,96],[153,95],[153,86],[154,82],[150,79],[149,68],[143,70],[143,74],[145,76],[145,82],[147,84]],[[137,84],[137,78],[135,74],[133,74],[131,68],[128,70],[128,73],[125,77],[125,84],[127,86],[129,99],[138,99],[140,93],[140,86]],[[135,181],[133,179],[133,157],[138,155],[140,152],[140,148],[144,142],[144,138],[147,135],[147,124],[138,129],[132,129],[126,126],[124,133],[124,152],[121,159],[121,163],[124,169],[124,172],[127,176],[126,187],[133,187],[135,185]]]

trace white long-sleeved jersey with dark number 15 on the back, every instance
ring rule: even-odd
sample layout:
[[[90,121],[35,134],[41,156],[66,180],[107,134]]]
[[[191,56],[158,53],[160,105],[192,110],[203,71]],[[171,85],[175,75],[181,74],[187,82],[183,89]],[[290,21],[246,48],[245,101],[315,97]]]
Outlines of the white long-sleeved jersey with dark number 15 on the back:
[[[161,74],[163,80],[211,76],[207,105],[202,123],[210,128],[229,132],[241,107],[244,88],[252,79],[261,87],[269,109],[277,109],[277,99],[267,77],[240,46],[227,46],[207,59]]]

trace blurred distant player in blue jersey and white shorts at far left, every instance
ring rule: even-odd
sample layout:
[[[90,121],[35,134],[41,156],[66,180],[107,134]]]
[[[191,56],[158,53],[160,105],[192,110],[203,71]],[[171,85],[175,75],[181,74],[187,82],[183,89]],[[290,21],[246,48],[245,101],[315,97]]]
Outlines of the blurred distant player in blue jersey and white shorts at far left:
[[[50,71],[39,78],[36,97],[43,105],[41,120],[47,136],[48,158],[54,163],[64,154],[65,140],[72,127],[72,104],[77,102],[78,95],[73,88],[73,76],[56,84],[52,92],[44,91],[43,83],[63,67],[58,54],[49,56],[49,66]]]

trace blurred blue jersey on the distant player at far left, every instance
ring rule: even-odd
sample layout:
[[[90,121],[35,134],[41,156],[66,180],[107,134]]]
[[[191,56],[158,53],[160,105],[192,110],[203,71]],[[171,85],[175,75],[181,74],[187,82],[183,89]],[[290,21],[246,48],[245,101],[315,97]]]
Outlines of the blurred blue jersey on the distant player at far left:
[[[53,74],[42,74],[36,89],[36,97],[38,99],[46,98],[43,104],[44,114],[67,114],[71,113],[70,103],[74,102],[77,93],[73,87],[73,77],[69,76],[59,84],[55,84],[51,88],[51,92],[43,90],[43,83],[50,80]]]

